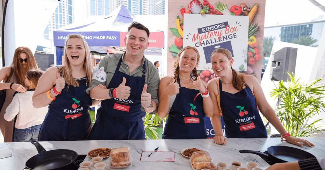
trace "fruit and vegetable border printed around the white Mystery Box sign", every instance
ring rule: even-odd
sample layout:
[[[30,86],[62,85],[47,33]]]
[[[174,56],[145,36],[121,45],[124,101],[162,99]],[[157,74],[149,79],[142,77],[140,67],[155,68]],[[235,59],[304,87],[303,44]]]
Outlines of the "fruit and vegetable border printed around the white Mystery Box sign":
[[[258,53],[258,47],[257,47],[257,40],[259,40],[259,38],[256,38],[256,36],[259,35],[260,27],[257,26],[257,23],[253,23],[253,21],[254,21],[254,18],[256,16],[260,6],[258,3],[251,2],[251,1],[250,1],[250,3],[238,3],[235,1],[231,1],[231,3],[229,3],[229,2],[230,1],[228,1],[228,3],[227,3],[227,1],[222,1],[222,2],[217,1],[217,2],[210,3],[208,0],[203,0],[203,1],[200,1],[200,0],[190,1],[189,0],[187,3],[181,5],[181,7],[178,8],[178,10],[179,10],[178,15],[176,15],[175,28],[169,28],[170,31],[175,36],[175,37],[173,37],[174,43],[170,44],[171,46],[169,46],[170,54],[172,56],[176,57],[177,53],[180,51],[180,49],[182,49],[183,46],[186,46],[184,43],[184,40],[188,37],[186,37],[186,35],[184,33],[184,28],[186,29],[186,26],[184,26],[184,19],[182,19],[182,17],[184,18],[184,14],[190,14],[191,17],[192,17],[192,15],[196,15],[196,14],[201,14],[202,16],[205,16],[206,14],[232,16],[232,17],[248,16],[249,17],[249,21],[248,21],[249,31],[248,31],[248,37],[247,37],[248,40],[246,41],[246,43],[248,42],[248,44],[250,44],[252,42],[253,47],[248,46],[248,49],[246,48],[245,50],[242,51],[242,53],[246,52],[246,54],[237,56],[236,55],[237,52],[235,53],[234,57],[235,58],[237,57],[236,59],[238,59],[238,57],[242,57],[244,59],[242,61],[240,61],[241,64],[238,63],[238,67],[236,66],[234,68],[242,73],[252,74],[252,75],[256,76],[254,70],[256,70],[257,68],[260,68],[260,67],[256,66],[255,64],[257,64],[257,63],[260,64],[260,62],[258,62],[258,61],[261,58],[261,55]],[[260,2],[260,3],[262,3],[264,5],[264,2]],[[188,4],[188,5],[186,5],[186,4]],[[215,4],[215,6],[214,6],[214,4]],[[197,22],[195,20],[191,19],[191,21],[193,23],[197,24]],[[207,21],[207,22],[209,22],[210,24],[213,24],[213,23],[211,23],[211,21]],[[210,41],[210,43],[211,43],[211,41]],[[224,42],[224,43],[220,42],[219,45],[220,45],[219,48],[224,48],[225,46],[227,46],[228,47],[227,49],[231,51],[232,55],[234,55],[232,49],[237,48],[237,47],[233,46],[231,41]],[[232,47],[230,48],[229,46],[232,46]],[[210,47],[206,46],[203,48],[204,57],[206,57],[205,58],[206,61],[210,60],[210,57],[207,56],[207,54],[213,48],[214,48],[213,45],[211,45]],[[251,53],[247,54],[247,52],[249,52],[249,51],[251,51]],[[207,62],[207,63],[209,63],[209,62]],[[216,75],[212,72],[212,68],[207,68],[206,66],[204,66],[203,68],[199,67],[198,74],[203,77],[203,74],[201,74],[202,71],[210,71],[212,74],[211,77],[204,78],[204,80],[206,82],[208,82],[210,79],[216,77]],[[259,73],[259,72],[260,71],[257,71],[257,73]]]

